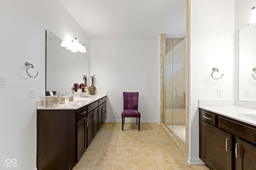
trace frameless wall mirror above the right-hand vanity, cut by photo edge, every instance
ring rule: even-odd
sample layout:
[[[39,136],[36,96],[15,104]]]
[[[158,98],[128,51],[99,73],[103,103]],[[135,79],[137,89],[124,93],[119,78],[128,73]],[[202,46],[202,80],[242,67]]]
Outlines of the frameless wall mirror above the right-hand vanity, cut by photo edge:
[[[254,69],[255,68],[255,69]],[[239,29],[238,100],[256,102],[256,23]]]

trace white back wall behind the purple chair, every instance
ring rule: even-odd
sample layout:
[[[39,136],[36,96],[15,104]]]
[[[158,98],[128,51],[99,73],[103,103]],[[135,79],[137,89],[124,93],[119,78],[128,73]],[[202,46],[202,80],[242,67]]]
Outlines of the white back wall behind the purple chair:
[[[139,92],[141,121],[160,122],[159,36],[91,38],[90,59],[96,90],[108,92],[106,121],[121,121],[122,92]]]

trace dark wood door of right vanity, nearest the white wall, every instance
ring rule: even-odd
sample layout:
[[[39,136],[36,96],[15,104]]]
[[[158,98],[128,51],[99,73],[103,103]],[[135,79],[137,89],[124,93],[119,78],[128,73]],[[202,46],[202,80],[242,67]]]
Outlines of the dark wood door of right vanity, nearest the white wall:
[[[210,169],[232,170],[232,136],[202,121],[201,157]]]

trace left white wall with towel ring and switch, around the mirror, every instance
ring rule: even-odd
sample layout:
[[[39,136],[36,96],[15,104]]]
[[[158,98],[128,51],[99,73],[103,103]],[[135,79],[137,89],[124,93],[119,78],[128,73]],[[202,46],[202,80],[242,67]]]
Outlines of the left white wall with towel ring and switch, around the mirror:
[[[36,100],[45,96],[45,30],[61,39],[78,37],[88,56],[90,38],[58,0],[1,0],[0,20],[0,76],[7,77],[7,88],[0,89],[0,169],[34,170]],[[34,64],[36,78],[26,74],[25,62]],[[28,98],[30,88],[34,99]],[[4,167],[6,159],[16,159],[18,168]]]

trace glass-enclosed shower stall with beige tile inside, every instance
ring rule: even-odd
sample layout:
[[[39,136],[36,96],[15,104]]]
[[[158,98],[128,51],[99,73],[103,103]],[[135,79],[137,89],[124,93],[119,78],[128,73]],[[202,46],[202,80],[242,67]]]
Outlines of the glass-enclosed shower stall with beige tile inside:
[[[164,56],[163,123],[185,145],[185,39]]]

